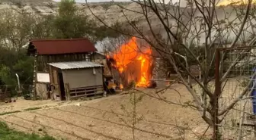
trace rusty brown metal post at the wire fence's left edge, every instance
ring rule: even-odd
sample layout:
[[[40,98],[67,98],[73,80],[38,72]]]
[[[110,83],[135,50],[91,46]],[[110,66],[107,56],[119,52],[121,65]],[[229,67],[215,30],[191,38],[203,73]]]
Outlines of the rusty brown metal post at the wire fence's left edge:
[[[219,140],[219,95],[221,92],[221,82],[219,79],[219,64],[220,64],[220,49],[216,48],[216,58],[215,58],[215,92],[213,94],[213,101],[215,105],[213,106],[213,140]]]

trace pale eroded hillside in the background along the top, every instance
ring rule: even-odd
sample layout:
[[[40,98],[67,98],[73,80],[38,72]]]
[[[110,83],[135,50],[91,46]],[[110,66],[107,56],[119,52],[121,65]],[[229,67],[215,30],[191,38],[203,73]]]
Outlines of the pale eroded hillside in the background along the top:
[[[35,15],[49,15],[49,14],[57,14],[58,11],[58,3],[53,2],[50,0],[2,0],[0,2],[0,10],[13,10],[17,11],[18,13],[27,13],[27,14],[35,14]],[[94,15],[97,17],[100,17],[101,20],[104,20],[104,23],[107,23],[107,25],[113,25],[114,23],[122,23],[122,25],[127,28],[126,26],[127,19],[129,21],[135,21],[139,25],[140,29],[143,29],[144,33],[150,34],[149,32],[149,25],[147,21],[145,20],[145,16],[143,14],[139,14],[142,12],[142,8],[140,5],[136,4],[135,2],[98,2],[98,3],[89,3],[86,5],[85,3],[77,3],[76,4],[79,12],[82,14],[86,14],[89,17],[96,20]],[[123,7],[123,8],[120,8]],[[168,12],[175,13],[177,12],[177,7],[174,6],[168,6]],[[91,14],[91,11],[94,13]],[[190,16],[188,15],[190,13],[189,8],[181,8],[181,11],[183,11],[182,22],[184,24],[187,23],[188,20],[190,20]],[[125,16],[124,16],[125,14]],[[156,17],[156,15],[149,11],[149,22],[151,23],[152,29],[161,34],[162,36],[165,35],[166,32],[164,31],[164,28],[162,26],[162,23]],[[218,20],[224,20],[226,23],[229,22],[236,22],[241,23],[237,17],[236,12],[234,11],[234,8],[231,6],[226,7],[218,7],[216,8],[216,14],[218,15]],[[178,15],[177,15],[178,16]],[[170,17],[170,16],[169,16]],[[202,14],[200,11],[196,11],[194,14],[194,17],[202,17]],[[242,17],[240,17],[242,18]],[[194,18],[195,22],[194,25],[191,27],[191,30],[194,30],[195,28],[200,28],[200,20],[197,20]],[[168,21],[170,25],[172,26],[171,30],[176,30],[176,26],[178,21],[174,20],[174,18],[168,18]],[[218,21],[216,20],[216,23]],[[254,23],[255,21],[252,20],[251,23]],[[102,23],[98,22],[98,25],[102,25]],[[225,23],[222,23],[223,26],[225,26]],[[130,26],[131,27],[131,26]],[[237,28],[238,26],[236,26]],[[238,30],[238,29],[235,29]],[[251,30],[248,27],[246,27],[246,30]],[[213,30],[213,34],[216,33],[215,30]],[[235,33],[229,34],[229,40],[233,39],[235,37]],[[191,35],[192,36],[192,35]],[[201,38],[205,38],[205,36],[202,34],[200,35]],[[251,36],[251,34],[245,33],[245,36]],[[203,44],[203,39],[200,40],[200,44]]]

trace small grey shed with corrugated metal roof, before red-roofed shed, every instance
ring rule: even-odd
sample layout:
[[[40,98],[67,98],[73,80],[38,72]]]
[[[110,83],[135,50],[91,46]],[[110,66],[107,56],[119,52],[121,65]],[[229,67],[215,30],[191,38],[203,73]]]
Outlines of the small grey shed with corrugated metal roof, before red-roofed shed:
[[[51,98],[72,100],[88,95],[101,95],[103,66],[90,61],[57,62],[49,64]]]

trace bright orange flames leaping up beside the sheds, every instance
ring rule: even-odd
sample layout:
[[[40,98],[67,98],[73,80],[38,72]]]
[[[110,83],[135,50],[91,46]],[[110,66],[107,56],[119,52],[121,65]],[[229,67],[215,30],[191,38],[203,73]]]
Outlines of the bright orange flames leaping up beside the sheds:
[[[132,37],[129,42],[121,45],[118,51],[113,53],[113,58],[116,61],[114,67],[116,67],[120,73],[125,73],[125,70],[129,69],[129,67],[127,67],[128,64],[131,64],[133,61],[139,61],[140,70],[139,76],[137,76],[139,79],[136,81],[136,86],[147,87],[149,86],[149,80],[152,74],[149,72],[150,67],[152,67],[150,54],[152,54],[150,48],[146,48],[143,51],[140,50],[136,37]]]

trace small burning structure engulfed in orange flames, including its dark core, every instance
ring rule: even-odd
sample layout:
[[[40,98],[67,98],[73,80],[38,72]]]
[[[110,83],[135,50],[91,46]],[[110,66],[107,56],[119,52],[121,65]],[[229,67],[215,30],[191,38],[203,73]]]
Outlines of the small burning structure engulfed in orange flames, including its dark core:
[[[150,46],[142,47],[138,39],[133,37],[108,54],[107,58],[113,60],[111,65],[119,72],[120,86],[128,86],[130,82],[135,82],[137,87],[150,85],[153,66]]]

